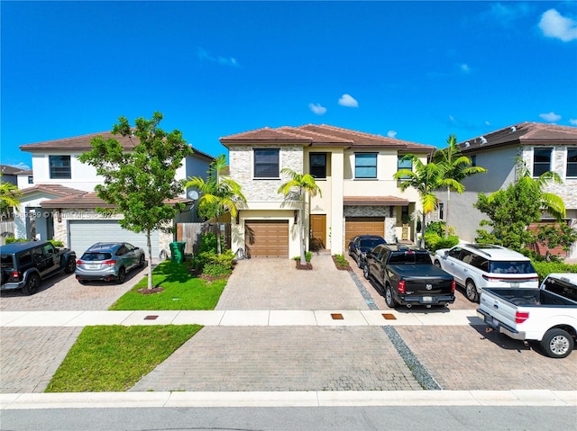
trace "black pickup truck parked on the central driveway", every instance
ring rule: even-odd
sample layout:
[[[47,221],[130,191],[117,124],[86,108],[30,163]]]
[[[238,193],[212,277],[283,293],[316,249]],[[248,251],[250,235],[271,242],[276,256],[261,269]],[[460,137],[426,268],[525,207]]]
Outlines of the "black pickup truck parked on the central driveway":
[[[448,305],[454,302],[453,275],[433,265],[429,253],[405,244],[382,244],[367,253],[364,278],[377,282],[385,302],[397,305]]]

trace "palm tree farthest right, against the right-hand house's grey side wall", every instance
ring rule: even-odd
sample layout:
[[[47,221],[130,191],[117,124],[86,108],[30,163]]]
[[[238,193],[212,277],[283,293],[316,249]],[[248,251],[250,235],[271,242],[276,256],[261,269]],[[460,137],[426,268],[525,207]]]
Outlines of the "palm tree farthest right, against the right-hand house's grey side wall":
[[[447,190],[447,208],[445,211],[444,237],[449,235],[449,204],[451,202],[451,191],[463,193],[465,186],[461,184],[467,176],[487,172],[481,166],[471,166],[469,157],[461,154],[461,149],[457,147],[457,138],[454,135],[447,139],[447,148],[435,151],[433,161],[443,170],[441,184]]]

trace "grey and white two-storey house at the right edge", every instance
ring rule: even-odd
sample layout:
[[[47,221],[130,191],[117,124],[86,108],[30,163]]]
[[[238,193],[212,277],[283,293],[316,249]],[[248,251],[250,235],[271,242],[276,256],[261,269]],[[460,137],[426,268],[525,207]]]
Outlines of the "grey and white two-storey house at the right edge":
[[[474,241],[476,230],[485,214],[473,208],[478,193],[490,194],[506,189],[516,180],[516,160],[521,157],[531,174],[538,177],[546,171],[556,172],[563,184],[550,183],[545,192],[555,193],[563,198],[567,210],[566,222],[577,227],[577,128],[521,122],[496,130],[459,144],[464,156],[472,160],[473,166],[489,170],[487,174],[473,175],[463,180],[465,192],[451,193],[449,224],[457,235],[465,241]],[[444,211],[445,193],[437,193],[440,211]],[[444,214],[437,213],[438,219]],[[544,221],[553,220],[544,215]],[[568,256],[577,257],[577,244]]]

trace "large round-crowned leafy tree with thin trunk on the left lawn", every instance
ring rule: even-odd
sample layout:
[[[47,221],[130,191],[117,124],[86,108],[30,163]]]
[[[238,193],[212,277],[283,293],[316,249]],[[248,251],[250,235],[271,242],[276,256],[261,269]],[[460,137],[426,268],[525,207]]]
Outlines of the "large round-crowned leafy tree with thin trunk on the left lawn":
[[[124,229],[144,232],[149,258],[151,231],[172,231],[172,220],[184,209],[184,204],[169,200],[182,193],[184,182],[176,179],[176,172],[184,157],[192,154],[179,130],[160,129],[162,118],[160,112],[154,112],[151,120],[138,118],[131,128],[124,116],[119,117],[112,132],[132,139],[131,151],[125,151],[116,139],[98,136],[90,142],[92,149],[78,157],[104,177],[104,184],[95,187],[96,194],[113,209],[96,211],[122,213],[124,219],[119,223]],[[152,288],[151,265],[148,288]]]

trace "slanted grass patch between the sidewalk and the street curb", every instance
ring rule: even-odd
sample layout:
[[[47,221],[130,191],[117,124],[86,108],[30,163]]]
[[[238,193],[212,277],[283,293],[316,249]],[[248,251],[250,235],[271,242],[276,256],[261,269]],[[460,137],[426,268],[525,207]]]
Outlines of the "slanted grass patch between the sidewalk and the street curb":
[[[201,328],[199,325],[86,327],[46,392],[127,391]]]

